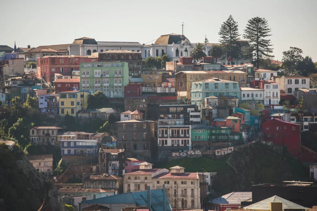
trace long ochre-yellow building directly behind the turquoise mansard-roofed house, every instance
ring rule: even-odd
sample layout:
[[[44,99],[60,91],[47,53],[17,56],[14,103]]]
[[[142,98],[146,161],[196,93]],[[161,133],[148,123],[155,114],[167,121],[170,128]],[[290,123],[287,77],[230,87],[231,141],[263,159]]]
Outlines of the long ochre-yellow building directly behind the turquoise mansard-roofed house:
[[[175,74],[175,88],[179,96],[191,99],[191,84],[210,78],[237,81],[239,87],[247,86],[247,73],[243,71],[180,71]]]

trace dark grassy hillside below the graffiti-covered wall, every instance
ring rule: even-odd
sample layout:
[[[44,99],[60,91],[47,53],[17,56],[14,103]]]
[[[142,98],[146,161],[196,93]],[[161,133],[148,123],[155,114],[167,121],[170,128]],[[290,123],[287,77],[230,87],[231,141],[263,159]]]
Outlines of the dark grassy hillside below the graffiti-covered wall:
[[[185,172],[217,172],[213,181],[214,196],[220,196],[232,191],[248,191],[253,184],[281,183],[285,180],[309,181],[309,170],[287,150],[283,150],[283,158],[269,147],[260,143],[240,148],[227,154],[222,159],[185,158],[171,162],[154,163],[153,168],[170,168],[180,165]]]

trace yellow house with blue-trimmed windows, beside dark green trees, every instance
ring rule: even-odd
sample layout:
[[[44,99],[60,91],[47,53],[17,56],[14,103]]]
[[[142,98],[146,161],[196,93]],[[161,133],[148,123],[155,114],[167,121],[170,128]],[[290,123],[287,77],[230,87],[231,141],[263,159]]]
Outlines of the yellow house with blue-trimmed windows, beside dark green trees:
[[[87,91],[67,91],[59,92],[59,114],[61,116],[71,115],[76,118],[77,111],[87,109],[88,95]]]

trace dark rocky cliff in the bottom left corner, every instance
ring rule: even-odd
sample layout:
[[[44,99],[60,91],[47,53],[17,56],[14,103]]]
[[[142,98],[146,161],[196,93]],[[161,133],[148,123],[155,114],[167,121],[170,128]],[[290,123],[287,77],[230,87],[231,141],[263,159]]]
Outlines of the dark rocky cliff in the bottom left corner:
[[[36,171],[22,150],[0,144],[0,209],[64,210],[55,183]]]

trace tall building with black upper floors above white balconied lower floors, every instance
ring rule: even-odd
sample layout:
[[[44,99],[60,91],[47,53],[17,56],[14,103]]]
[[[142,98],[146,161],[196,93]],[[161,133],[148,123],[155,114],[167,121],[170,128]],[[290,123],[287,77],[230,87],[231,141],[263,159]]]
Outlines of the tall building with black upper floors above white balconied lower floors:
[[[159,151],[191,149],[191,125],[200,125],[197,105],[160,105]]]

